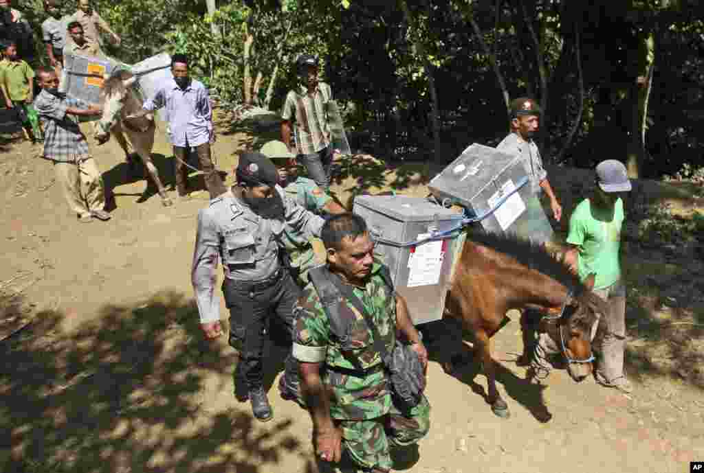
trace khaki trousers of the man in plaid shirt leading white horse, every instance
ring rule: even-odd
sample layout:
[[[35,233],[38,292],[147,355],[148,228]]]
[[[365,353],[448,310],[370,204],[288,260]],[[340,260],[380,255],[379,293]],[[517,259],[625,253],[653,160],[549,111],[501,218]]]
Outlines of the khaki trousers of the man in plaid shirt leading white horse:
[[[80,162],[54,161],[54,171],[56,182],[73,212],[82,215],[91,210],[103,210],[103,178],[92,157]]]

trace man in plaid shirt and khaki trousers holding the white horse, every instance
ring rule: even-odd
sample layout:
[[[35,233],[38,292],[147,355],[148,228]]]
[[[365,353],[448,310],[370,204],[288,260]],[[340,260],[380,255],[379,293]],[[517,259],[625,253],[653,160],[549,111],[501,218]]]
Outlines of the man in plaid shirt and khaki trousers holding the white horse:
[[[58,77],[53,70],[39,71],[39,93],[34,108],[44,124],[44,157],[54,162],[56,182],[80,221],[95,217],[109,220],[105,212],[105,191],[100,171],[88,151],[88,142],[78,127],[77,117],[102,115],[101,108],[66,98],[58,92]]]

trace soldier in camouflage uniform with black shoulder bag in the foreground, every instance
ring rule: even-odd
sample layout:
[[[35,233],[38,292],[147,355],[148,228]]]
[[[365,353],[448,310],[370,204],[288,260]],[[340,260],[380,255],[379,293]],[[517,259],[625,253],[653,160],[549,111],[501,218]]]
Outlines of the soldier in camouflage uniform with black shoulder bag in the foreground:
[[[353,287],[389,352],[398,332],[427,365],[427,351],[406,303],[386,285],[382,265],[372,256],[374,244],[365,221],[350,213],[332,216],[321,238],[329,277]],[[389,447],[422,439],[429,430],[430,406],[425,397],[405,413],[394,406],[365,319],[346,299],[339,304],[344,327],[335,330],[313,283],[306,286],[296,308],[293,355],[301,363],[301,387],[313,419],[316,454],[338,462],[344,450],[358,472],[389,472]],[[338,337],[334,332],[347,335]]]

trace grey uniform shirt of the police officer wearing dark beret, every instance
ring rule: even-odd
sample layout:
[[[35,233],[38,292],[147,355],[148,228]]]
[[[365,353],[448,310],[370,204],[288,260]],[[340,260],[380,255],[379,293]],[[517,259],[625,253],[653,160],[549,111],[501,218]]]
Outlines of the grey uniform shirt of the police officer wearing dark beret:
[[[284,221],[256,214],[232,190],[199,211],[191,282],[201,323],[220,319],[220,302],[214,297],[218,257],[222,258],[226,278],[263,280],[279,269],[279,240],[284,226],[294,233],[320,236],[325,221],[297,205],[281,187],[275,190],[282,199]]]

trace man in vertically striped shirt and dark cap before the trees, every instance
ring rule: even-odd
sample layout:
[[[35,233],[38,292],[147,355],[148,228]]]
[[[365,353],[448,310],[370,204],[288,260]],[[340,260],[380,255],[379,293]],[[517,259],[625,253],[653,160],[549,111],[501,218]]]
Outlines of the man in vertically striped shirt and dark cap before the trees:
[[[308,176],[323,190],[330,184],[333,150],[327,107],[332,89],[318,81],[318,58],[303,54],[296,60],[296,69],[303,84],[286,96],[281,112],[281,136],[292,153],[291,122],[296,136],[295,154],[308,169]]]

